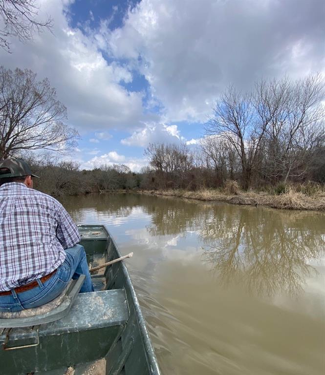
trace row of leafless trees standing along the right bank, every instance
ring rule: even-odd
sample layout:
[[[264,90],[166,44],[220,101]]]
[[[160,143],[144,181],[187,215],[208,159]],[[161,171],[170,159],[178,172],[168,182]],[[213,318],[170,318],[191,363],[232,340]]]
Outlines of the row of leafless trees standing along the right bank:
[[[151,144],[148,187],[244,189],[325,183],[324,79],[260,81],[250,92],[233,86],[214,106],[195,151],[186,145]]]

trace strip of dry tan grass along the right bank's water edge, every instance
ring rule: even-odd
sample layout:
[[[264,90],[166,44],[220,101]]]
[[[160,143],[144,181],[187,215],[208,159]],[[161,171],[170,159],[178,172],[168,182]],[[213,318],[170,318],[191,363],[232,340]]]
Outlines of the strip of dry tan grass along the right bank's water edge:
[[[272,208],[285,209],[307,209],[325,211],[325,194],[309,196],[302,192],[297,192],[293,188],[288,188],[283,194],[275,195],[266,192],[244,192],[235,187],[225,190],[201,189],[198,191],[187,190],[142,190],[145,194],[167,195],[188,199],[197,199],[201,201],[219,201],[237,205],[262,205]]]

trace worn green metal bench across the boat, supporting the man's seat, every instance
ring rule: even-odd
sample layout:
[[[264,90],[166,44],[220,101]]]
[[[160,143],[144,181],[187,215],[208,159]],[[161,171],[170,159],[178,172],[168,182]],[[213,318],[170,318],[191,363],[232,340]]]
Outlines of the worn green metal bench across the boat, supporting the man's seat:
[[[0,328],[1,375],[48,374],[101,359],[120,337],[129,317],[125,291],[114,289],[79,293],[60,320],[34,327]]]

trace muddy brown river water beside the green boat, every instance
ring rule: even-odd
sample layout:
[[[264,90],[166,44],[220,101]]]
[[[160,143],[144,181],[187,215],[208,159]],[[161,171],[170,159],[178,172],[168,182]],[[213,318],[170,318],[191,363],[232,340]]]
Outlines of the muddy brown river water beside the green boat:
[[[325,373],[325,214],[135,194],[62,203],[134,252],[164,375]]]

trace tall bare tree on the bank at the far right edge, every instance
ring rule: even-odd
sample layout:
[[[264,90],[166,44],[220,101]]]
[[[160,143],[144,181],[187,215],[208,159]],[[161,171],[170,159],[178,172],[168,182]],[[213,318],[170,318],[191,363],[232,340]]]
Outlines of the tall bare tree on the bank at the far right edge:
[[[324,80],[315,74],[296,82],[274,80],[258,88],[260,115],[273,108],[266,134],[265,174],[286,183],[288,177],[310,171],[316,149],[324,145]]]

